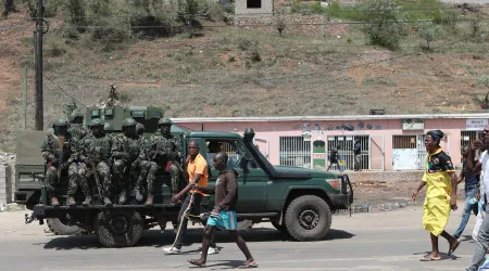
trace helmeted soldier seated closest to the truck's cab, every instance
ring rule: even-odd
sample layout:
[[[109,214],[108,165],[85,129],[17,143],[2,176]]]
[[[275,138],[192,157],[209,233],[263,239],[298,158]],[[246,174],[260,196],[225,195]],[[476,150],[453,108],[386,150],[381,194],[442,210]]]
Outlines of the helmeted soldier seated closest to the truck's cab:
[[[160,118],[158,127],[160,128],[151,138],[152,160],[170,172],[172,180],[172,193],[175,195],[181,186],[181,142],[179,138],[171,133],[173,121],[170,118]]]

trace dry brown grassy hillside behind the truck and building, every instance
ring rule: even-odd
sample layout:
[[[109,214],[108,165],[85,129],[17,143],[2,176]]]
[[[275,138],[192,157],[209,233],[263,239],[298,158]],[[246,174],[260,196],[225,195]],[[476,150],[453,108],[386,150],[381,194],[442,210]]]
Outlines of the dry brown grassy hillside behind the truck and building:
[[[454,9],[456,10],[456,9]],[[465,15],[471,11],[461,9]],[[423,50],[410,31],[399,50],[366,44],[355,24],[292,15],[273,26],[203,22],[201,36],[126,42],[120,48],[61,35],[61,15],[45,36],[45,127],[63,106],[103,100],[115,85],[126,104],[162,106],[171,117],[291,116],[480,112],[489,92],[488,8],[474,40],[457,23]],[[12,151],[22,121],[22,66],[29,67],[27,128],[34,127],[34,23],[22,7],[0,21],[0,150]]]

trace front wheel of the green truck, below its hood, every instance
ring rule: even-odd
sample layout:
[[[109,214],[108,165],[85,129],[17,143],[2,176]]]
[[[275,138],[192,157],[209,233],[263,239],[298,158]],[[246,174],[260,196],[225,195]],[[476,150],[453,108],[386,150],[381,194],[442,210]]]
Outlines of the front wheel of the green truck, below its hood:
[[[331,210],[318,196],[300,196],[287,206],[285,225],[297,241],[322,240],[331,227]]]

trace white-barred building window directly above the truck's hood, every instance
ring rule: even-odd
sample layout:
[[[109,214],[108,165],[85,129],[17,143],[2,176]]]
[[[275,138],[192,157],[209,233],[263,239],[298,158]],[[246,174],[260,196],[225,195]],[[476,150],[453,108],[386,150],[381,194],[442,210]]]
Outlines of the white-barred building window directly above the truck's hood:
[[[311,168],[311,141],[303,137],[280,137],[278,151],[281,166]]]

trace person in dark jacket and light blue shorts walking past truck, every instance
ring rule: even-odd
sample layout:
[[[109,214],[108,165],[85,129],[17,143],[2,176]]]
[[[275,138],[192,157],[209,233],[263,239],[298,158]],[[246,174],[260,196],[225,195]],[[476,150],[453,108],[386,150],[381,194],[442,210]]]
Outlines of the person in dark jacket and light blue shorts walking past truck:
[[[217,180],[215,182],[215,190],[210,190],[209,188],[198,188],[201,191],[208,193],[215,193],[215,204],[214,210],[208,220],[208,224],[204,230],[204,237],[202,240],[202,254],[200,259],[188,260],[193,266],[205,267],[205,261],[208,257],[208,248],[210,245],[212,233],[214,229],[225,230],[228,232],[230,238],[236,242],[239,249],[247,260],[239,268],[256,268],[258,263],[251,256],[248,249],[247,243],[238,234],[238,221],[236,220],[236,204],[238,202],[238,182],[237,178],[239,173],[234,169],[228,169],[226,167],[228,156],[224,152],[217,153],[212,163],[214,168],[220,171]]]

